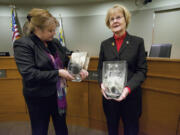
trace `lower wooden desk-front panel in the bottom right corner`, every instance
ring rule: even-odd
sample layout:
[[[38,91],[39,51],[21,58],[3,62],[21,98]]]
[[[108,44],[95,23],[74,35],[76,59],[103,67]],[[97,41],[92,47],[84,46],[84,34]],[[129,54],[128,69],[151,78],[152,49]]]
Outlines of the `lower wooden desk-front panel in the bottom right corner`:
[[[143,89],[140,132],[143,135],[175,135],[180,116],[180,96]]]

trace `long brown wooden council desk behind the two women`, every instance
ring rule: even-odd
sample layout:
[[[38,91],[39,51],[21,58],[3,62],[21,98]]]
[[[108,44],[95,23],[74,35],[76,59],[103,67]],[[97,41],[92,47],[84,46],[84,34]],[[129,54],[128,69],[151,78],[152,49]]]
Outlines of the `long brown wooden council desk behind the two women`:
[[[140,135],[176,135],[176,131],[180,135],[180,60],[147,58],[147,61]],[[89,71],[96,71],[97,62],[97,57],[91,58]],[[14,58],[0,57],[2,69],[6,70],[6,77],[0,78],[0,121],[28,120]],[[97,81],[68,82],[68,86],[68,124],[107,130]]]

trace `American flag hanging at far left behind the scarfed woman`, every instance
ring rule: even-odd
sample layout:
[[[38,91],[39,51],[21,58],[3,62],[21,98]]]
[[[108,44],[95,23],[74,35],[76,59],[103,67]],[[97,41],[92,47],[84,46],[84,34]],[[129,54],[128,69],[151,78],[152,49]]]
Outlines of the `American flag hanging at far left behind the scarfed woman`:
[[[16,24],[16,12],[15,9],[12,8],[12,41],[14,42],[18,38],[20,38],[20,34]]]

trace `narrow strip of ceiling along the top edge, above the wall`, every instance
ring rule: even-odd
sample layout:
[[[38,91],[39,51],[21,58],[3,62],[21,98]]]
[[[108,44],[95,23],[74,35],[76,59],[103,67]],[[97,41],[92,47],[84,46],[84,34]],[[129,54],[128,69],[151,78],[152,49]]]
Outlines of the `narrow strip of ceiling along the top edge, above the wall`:
[[[66,4],[88,4],[98,2],[112,2],[117,0],[0,0],[2,4],[15,5],[66,5]],[[120,1],[120,0],[119,0]]]

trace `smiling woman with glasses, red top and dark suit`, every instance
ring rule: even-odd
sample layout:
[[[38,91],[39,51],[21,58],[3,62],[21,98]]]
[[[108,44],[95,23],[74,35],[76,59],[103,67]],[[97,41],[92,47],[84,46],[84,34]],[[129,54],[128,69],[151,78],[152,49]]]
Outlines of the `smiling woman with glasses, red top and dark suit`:
[[[118,135],[120,118],[124,135],[138,135],[141,115],[141,87],[146,78],[147,62],[142,38],[130,35],[127,27],[130,13],[122,5],[114,5],[106,15],[106,25],[113,36],[101,43],[98,63],[99,84],[103,95],[103,108],[107,119],[108,134]],[[127,83],[121,95],[111,99],[102,84],[104,61],[126,61]]]

